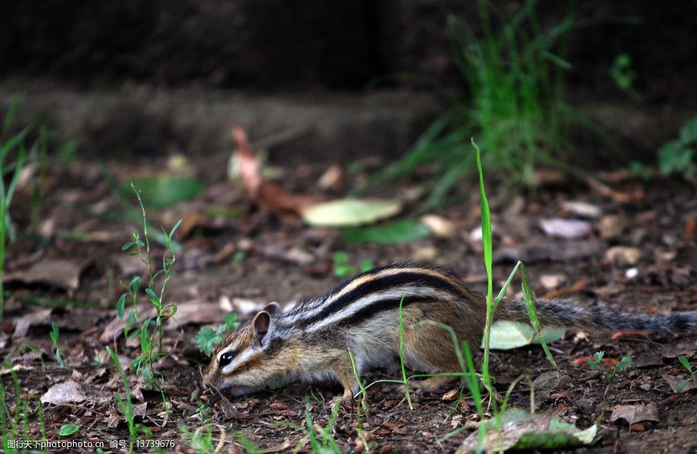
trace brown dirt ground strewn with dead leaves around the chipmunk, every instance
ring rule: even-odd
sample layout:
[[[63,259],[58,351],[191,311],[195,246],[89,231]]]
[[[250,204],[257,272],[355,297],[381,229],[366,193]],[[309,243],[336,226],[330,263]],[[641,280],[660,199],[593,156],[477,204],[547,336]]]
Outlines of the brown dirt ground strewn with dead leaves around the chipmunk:
[[[49,439],[58,439],[60,427],[68,422],[79,424],[79,432],[67,439],[108,443],[128,438],[114,398],[122,387],[105,346],[112,346],[124,364],[136,356],[139,342],[124,340],[115,307],[122,292],[120,280],[128,282],[134,273],[146,270],[121,250],[140,226],[137,219],[124,215],[114,187],[139,175],[156,174],[169,164],[158,158],[137,166],[107,162],[101,167],[78,160],[47,171],[41,202],[32,202],[28,187],[15,196],[12,215],[19,235],[6,262],[10,297],[2,320],[0,354],[18,375],[20,397],[32,402],[25,438],[41,438],[35,398],[46,401],[41,408]],[[317,192],[316,181],[325,170],[319,164],[286,169],[283,184]],[[107,171],[115,183],[105,178]],[[622,172],[597,176],[618,193],[632,195],[631,200],[613,201],[573,178],[541,184],[505,205],[493,200],[494,291],[521,259],[538,298],[567,297],[583,306],[607,304],[644,314],[697,309],[696,188],[679,179],[644,181]],[[345,174],[345,178],[350,186],[362,175]],[[210,396],[200,384],[207,357],[193,342],[196,332],[206,325],[217,327],[231,309],[245,318],[269,301],[288,304],[323,294],[340,281],[333,274],[335,252],[347,252],[349,263],[356,267],[362,260],[376,266],[404,260],[443,266],[475,289],[485,290],[481,246],[475,235],[480,222],[475,193],[434,213],[454,225],[454,233],[445,238],[431,235],[401,245],[347,245],[333,229],[309,228],[291,214],[255,206],[235,183],[206,183],[207,189],[194,200],[168,209],[148,209],[155,226],[169,228],[184,219],[175,235],[183,252],[177,254],[177,275],[168,284],[166,298],[179,306],[174,318],[165,323],[163,344],[171,355],[158,361],[169,411],[164,411],[159,392],[146,389],[134,373],[128,373],[136,422],[155,439],[175,440],[179,451],[191,449],[182,427],[194,432],[204,425],[197,409]],[[490,193],[496,189],[492,181]],[[406,193],[409,188],[399,190]],[[584,218],[568,202],[586,202],[596,212]],[[407,207],[407,214],[414,208]],[[540,221],[552,218],[586,219],[590,229],[579,238],[556,238],[539,227]],[[158,257],[162,250],[155,245],[153,252]],[[509,293],[520,293],[518,277]],[[49,338],[51,321],[60,330],[60,353],[67,368],[56,363]],[[581,428],[598,420],[598,436],[580,451],[697,450],[697,391],[691,386],[675,389],[676,383],[689,377],[677,357],[685,356],[697,365],[697,335],[615,339],[613,333],[568,331],[551,349],[559,367],[554,380],[542,375],[554,369],[539,346],[494,351],[491,369],[497,391],[505,392],[516,377],[526,374],[532,380],[539,378],[535,382],[537,412],[553,412]],[[601,371],[591,370],[584,359],[597,351],[615,360],[631,355],[635,367],[609,380]],[[390,375],[376,371],[366,378],[370,382]],[[2,382],[8,406],[18,411],[7,368]],[[46,391],[63,382],[77,387],[62,403],[49,403]],[[338,391],[312,388],[314,422],[326,424]],[[414,410],[409,410],[403,388],[372,387],[371,415],[364,422],[371,451],[456,450],[471,430],[442,443],[437,439],[478,417],[471,397],[456,405],[454,398],[444,397],[447,391],[414,394]],[[224,436],[229,452],[241,450],[239,438],[234,441],[241,433],[264,452],[290,451],[296,446],[308,450],[306,434],[292,425],[305,424],[307,392],[307,385],[295,384],[232,398],[225,411],[216,406],[207,412],[214,423],[210,426],[214,446]],[[513,391],[512,404],[529,408],[527,385]],[[639,404],[655,406],[657,412],[629,424],[612,420],[613,413],[624,406]],[[333,436],[345,452],[360,449],[352,409],[341,409]]]

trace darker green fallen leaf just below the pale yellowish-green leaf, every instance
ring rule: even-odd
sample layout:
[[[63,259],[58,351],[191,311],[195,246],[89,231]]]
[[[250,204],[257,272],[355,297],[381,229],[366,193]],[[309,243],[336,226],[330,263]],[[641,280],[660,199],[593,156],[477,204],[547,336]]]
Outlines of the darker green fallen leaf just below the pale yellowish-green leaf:
[[[341,238],[349,243],[389,245],[409,242],[430,235],[430,229],[417,219],[392,221],[379,226],[344,228]]]

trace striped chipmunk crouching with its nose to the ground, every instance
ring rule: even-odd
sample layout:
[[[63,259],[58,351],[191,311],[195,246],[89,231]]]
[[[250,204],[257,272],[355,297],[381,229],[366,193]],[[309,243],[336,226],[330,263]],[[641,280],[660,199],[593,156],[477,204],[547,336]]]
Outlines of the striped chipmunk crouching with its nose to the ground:
[[[343,399],[359,390],[351,351],[360,374],[394,364],[399,356],[402,302],[404,363],[429,373],[459,370],[452,336],[433,320],[451,326],[457,338],[478,346],[484,332],[485,297],[459,278],[436,268],[394,264],[346,280],[318,299],[288,311],[271,303],[231,333],[212,353],[203,383],[241,395],[290,382],[338,381]],[[584,330],[697,332],[697,311],[670,316],[622,313],[606,307],[537,301],[542,326]],[[523,301],[504,299],[494,320],[530,323]],[[452,377],[430,377],[414,387],[435,391]]]

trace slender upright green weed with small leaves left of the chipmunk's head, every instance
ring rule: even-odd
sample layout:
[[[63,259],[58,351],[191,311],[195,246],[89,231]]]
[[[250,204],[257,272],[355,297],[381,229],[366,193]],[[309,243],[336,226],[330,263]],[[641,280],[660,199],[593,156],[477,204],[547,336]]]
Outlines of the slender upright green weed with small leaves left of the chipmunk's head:
[[[167,283],[175,274],[174,261],[176,261],[176,256],[174,254],[172,238],[174,236],[174,232],[177,231],[177,228],[181,224],[181,219],[174,224],[169,232],[167,232],[165,228],[162,228],[162,238],[165,242],[165,252],[162,253],[162,268],[156,269],[155,261],[153,260],[153,255],[151,252],[148,221],[143,200],[141,199],[138,190],[136,190],[136,187],[133,184],[131,184],[131,187],[134,190],[141,207],[143,219],[143,237],[141,238],[139,232],[133,232],[131,235],[132,240],[124,244],[121,249],[123,251],[134,249],[135,252],[130,252],[130,254],[138,256],[148,267],[148,286],[145,288],[145,293],[155,309],[155,316],[153,318],[144,320],[143,323],[139,323],[138,301],[139,290],[141,287],[141,278],[139,276],[134,276],[127,285],[123,282],[121,283],[126,292],[124,292],[118,299],[116,310],[118,316],[124,316],[127,299],[132,301],[133,307],[128,312],[128,319],[126,326],[124,327],[124,334],[130,338],[135,338],[137,336],[141,337],[141,354],[134,358],[134,361],[131,363],[130,367],[134,368],[136,373],[143,376],[143,379],[149,387],[158,388],[160,391],[162,391],[160,387],[160,379],[158,375],[156,375],[155,369],[153,368],[153,363],[161,356],[165,356],[165,353],[162,351],[162,322],[177,313],[176,305],[165,304],[165,290],[167,289]],[[136,328],[131,331],[131,328],[134,325]],[[153,325],[152,329],[151,325]]]

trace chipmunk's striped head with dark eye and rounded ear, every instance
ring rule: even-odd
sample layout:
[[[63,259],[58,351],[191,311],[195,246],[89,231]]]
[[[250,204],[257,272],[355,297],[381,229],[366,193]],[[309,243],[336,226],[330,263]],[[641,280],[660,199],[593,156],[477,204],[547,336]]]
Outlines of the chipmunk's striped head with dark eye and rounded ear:
[[[270,360],[279,351],[279,343],[273,342],[276,339],[273,316],[280,311],[279,304],[271,303],[232,332],[213,351],[203,376],[204,386],[240,396],[264,389],[277,380],[278,368]]]

